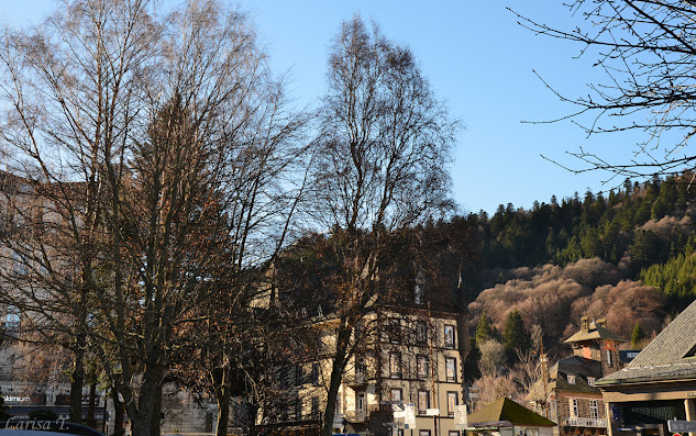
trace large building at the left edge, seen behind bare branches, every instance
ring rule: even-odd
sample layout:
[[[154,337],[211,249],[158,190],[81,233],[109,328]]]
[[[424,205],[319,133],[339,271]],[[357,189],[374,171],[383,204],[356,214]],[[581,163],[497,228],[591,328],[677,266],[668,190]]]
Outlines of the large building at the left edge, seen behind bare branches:
[[[56,280],[69,276],[67,268],[57,270],[65,266],[56,255],[58,243],[34,244],[38,236],[55,235],[59,223],[55,208],[36,194],[37,186],[0,171],[0,391],[14,416],[36,410],[67,416],[71,360],[64,338],[58,339],[51,328],[41,336],[37,317],[29,316],[18,303],[26,294],[44,298],[48,265],[56,269]],[[85,387],[82,398],[84,418],[95,420],[91,424],[101,427],[103,392]]]

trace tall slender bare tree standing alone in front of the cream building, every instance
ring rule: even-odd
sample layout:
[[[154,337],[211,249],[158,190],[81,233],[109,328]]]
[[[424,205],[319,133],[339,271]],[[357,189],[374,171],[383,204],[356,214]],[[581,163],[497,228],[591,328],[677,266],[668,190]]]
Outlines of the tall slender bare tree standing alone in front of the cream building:
[[[331,232],[338,264],[327,436],[353,328],[375,302],[387,238],[452,205],[446,164],[456,126],[410,49],[360,16],[344,22],[333,41],[328,79],[309,211],[321,231]]]

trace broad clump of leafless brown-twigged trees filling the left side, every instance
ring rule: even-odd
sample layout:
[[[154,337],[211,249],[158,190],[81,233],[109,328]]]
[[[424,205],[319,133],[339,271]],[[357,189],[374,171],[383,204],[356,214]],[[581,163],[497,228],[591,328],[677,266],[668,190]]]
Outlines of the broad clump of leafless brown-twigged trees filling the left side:
[[[22,278],[14,304],[70,338],[76,392],[84,354],[99,357],[134,435],[159,434],[165,377],[216,279],[287,232],[292,202],[275,192],[301,125],[243,14],[153,9],[76,0],[0,40],[8,168],[47,224],[3,239],[27,268],[3,284]]]

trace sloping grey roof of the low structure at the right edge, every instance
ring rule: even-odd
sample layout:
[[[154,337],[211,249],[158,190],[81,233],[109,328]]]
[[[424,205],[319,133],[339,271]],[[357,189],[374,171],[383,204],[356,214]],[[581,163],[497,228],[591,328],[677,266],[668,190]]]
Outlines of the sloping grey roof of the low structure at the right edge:
[[[689,304],[626,368],[598,385],[696,379],[696,301]]]

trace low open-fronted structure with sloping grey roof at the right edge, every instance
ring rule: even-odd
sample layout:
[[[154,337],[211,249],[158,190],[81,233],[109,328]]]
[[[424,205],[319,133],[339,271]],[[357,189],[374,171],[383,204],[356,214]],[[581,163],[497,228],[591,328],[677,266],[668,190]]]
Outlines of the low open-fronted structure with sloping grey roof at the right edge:
[[[669,420],[696,421],[696,301],[626,368],[596,385],[609,436],[665,435]]]

